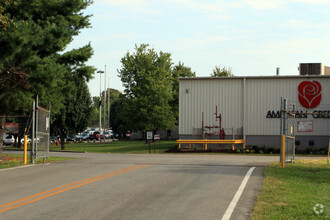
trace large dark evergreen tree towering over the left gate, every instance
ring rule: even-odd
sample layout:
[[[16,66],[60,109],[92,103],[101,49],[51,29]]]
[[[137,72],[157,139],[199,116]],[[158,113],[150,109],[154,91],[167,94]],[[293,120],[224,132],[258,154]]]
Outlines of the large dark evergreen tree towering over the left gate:
[[[36,95],[40,103],[52,103],[52,113],[60,112],[66,93],[58,90],[66,85],[67,75],[92,77],[91,67],[74,63],[84,49],[63,54],[73,37],[89,27],[90,16],[81,11],[91,2],[16,0],[1,4],[1,17],[14,25],[0,31],[0,136],[5,116],[27,114]],[[1,149],[2,142],[0,157]]]

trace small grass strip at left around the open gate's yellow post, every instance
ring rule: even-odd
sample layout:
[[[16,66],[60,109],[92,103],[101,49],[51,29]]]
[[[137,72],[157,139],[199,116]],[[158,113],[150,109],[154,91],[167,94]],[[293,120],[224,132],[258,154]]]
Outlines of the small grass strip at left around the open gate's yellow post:
[[[59,160],[70,160],[72,158],[65,158],[65,157],[49,157],[45,160],[43,159],[37,159],[35,160],[35,163],[51,163]],[[28,156],[27,163],[30,164],[31,159],[30,156]],[[0,161],[0,169],[3,168],[9,168],[9,167],[15,167],[15,166],[21,166],[24,165],[23,162],[23,154],[22,155],[12,155],[12,154],[3,154],[2,155],[2,161]]]

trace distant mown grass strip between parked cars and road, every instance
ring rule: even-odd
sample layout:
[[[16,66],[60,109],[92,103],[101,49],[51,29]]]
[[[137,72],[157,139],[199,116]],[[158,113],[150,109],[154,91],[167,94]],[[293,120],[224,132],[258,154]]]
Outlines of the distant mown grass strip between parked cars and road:
[[[176,147],[176,141],[160,141],[151,143],[151,153],[164,153],[170,148]],[[50,150],[60,151],[61,146],[50,146]],[[65,150],[68,151],[83,151],[91,153],[132,153],[146,154],[149,153],[149,144],[145,141],[112,141],[105,143],[73,143],[66,144]]]

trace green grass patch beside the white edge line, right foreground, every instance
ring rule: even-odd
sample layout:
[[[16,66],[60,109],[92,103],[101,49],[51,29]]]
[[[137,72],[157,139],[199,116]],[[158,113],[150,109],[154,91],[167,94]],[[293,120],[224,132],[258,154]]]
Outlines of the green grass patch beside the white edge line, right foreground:
[[[252,219],[330,219],[330,164],[326,159],[297,160],[286,168],[274,163],[265,168],[264,175]]]

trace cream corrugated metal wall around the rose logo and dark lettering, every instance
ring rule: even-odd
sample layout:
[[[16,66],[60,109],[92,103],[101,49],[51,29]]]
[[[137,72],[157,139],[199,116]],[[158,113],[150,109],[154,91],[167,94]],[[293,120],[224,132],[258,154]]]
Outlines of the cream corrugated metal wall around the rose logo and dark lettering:
[[[288,99],[289,108],[295,105],[296,110],[306,111],[298,100],[298,85],[302,81],[316,80],[322,85],[322,101],[315,109],[330,110],[329,77],[233,77],[201,78],[180,80],[179,101],[179,134],[192,135],[194,128],[204,125],[218,125],[215,119],[215,108],[222,114],[223,127],[241,128],[245,135],[279,135],[280,119],[266,118],[268,111],[280,110],[281,97]],[[245,81],[245,92],[244,92]],[[244,112],[245,97],[245,112]],[[296,119],[313,121],[313,132],[296,133],[296,135],[315,136],[330,135],[330,118]]]

